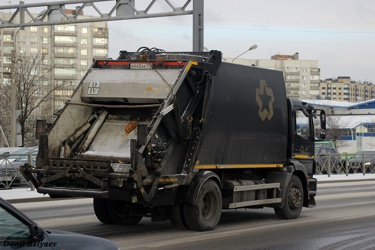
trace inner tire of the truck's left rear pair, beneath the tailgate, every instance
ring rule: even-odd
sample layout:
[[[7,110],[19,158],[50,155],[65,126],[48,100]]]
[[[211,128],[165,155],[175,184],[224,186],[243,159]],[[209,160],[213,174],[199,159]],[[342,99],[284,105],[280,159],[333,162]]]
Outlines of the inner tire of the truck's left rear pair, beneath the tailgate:
[[[122,201],[108,200],[108,212],[115,224],[136,225],[142,216],[130,216]]]

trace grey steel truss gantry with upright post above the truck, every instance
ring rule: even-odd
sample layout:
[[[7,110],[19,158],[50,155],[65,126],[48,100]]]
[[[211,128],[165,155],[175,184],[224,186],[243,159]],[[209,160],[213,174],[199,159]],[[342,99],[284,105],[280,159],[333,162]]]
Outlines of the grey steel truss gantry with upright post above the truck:
[[[101,2],[114,3],[112,9],[108,13],[102,13],[101,10],[96,6],[96,3]],[[171,8],[169,12],[159,13],[148,13],[151,7],[161,0],[151,0],[147,8],[144,10],[138,10],[135,7],[135,0],[68,0],[68,1],[53,1],[48,3],[28,3],[20,1],[20,4],[15,5],[3,5],[0,6],[0,10],[15,9],[12,17],[9,20],[3,20],[0,18],[1,28],[13,28],[20,27],[24,30],[25,27],[29,26],[41,26],[41,25],[61,25],[61,24],[75,24],[84,22],[102,22],[102,21],[116,21],[126,19],[140,19],[140,18],[153,18],[162,16],[179,16],[179,15],[193,15],[193,51],[203,51],[203,7],[204,0],[186,0],[183,1],[183,6],[176,7],[169,0],[165,1]],[[193,1],[193,9],[186,10],[189,3]],[[76,8],[75,15],[68,16],[65,13],[65,5],[77,4],[81,5]],[[108,3],[109,4],[109,3]],[[108,6],[107,4],[107,6]],[[40,12],[37,17],[34,17],[29,8],[33,7],[44,7],[45,10]],[[85,7],[93,7],[99,14],[99,17],[94,18],[81,18],[80,13]],[[16,16],[20,15],[20,22],[16,21]],[[25,22],[25,16],[28,15],[32,19],[31,22]],[[78,19],[78,16],[80,18]]]

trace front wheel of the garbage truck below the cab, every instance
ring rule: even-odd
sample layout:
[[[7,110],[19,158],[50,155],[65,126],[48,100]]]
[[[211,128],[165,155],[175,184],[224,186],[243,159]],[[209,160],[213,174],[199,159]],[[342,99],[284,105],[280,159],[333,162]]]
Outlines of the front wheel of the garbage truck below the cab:
[[[274,208],[276,216],[280,219],[297,219],[303,207],[303,186],[301,180],[293,175],[290,178],[286,197],[282,208]]]

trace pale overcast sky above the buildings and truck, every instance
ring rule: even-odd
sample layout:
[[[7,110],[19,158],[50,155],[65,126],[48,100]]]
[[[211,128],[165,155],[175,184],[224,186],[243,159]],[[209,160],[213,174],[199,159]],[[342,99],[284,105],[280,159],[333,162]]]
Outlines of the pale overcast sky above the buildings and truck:
[[[186,2],[170,1],[177,7]],[[136,0],[135,7],[144,10],[150,2]],[[96,5],[102,13],[108,13],[114,1]],[[190,9],[192,2],[186,8]],[[156,1],[149,13],[159,11],[170,11],[163,0]],[[84,9],[84,15],[97,16],[89,8]],[[114,59],[120,50],[136,51],[141,46],[192,50],[192,15],[110,21],[108,28],[109,56]],[[253,44],[258,48],[242,58],[270,59],[270,55],[299,52],[300,60],[318,60],[323,79],[350,76],[352,80],[374,83],[375,1],[204,0],[205,47],[233,58]]]

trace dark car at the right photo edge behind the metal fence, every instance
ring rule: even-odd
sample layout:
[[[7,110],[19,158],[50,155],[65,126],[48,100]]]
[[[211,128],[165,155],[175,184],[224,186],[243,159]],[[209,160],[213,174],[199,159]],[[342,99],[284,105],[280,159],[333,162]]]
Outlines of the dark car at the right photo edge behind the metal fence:
[[[363,157],[365,158],[365,166],[363,166]],[[360,151],[348,160],[349,172],[363,173],[363,168],[366,168],[366,172],[375,172],[375,150]]]

